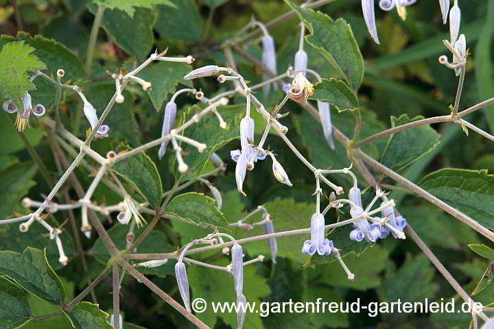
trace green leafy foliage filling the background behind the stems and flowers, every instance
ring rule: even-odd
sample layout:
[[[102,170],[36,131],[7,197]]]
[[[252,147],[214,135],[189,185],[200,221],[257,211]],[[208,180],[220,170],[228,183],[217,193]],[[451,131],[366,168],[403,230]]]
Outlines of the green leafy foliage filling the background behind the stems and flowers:
[[[16,16],[12,3],[18,7],[19,16]],[[138,85],[127,88],[124,93],[126,101],[116,104],[105,121],[110,125],[110,138],[95,141],[92,145],[103,155],[110,150],[121,149],[121,145],[130,149],[158,138],[164,104],[178,88],[194,86],[208,97],[230,88],[231,85],[217,84],[212,78],[191,84],[183,80],[183,75],[207,64],[224,66],[226,60],[219,47],[220,42],[233,37],[252,15],[259,21],[267,22],[290,10],[287,3],[278,0],[0,0],[0,5],[2,103],[6,98],[18,99],[26,88],[33,88],[26,80],[29,76],[27,71],[43,69],[46,74],[55,76],[57,69],[64,69],[66,75],[62,81],[84,87],[84,94],[101,114],[115,90],[106,71],[130,69],[148,58],[154,49],[167,47],[169,56],[192,55],[196,58],[193,66],[158,62],[139,74],[152,82],[153,89],[146,95]],[[98,5],[106,5],[108,9],[102,18],[93,69],[85,73],[83,63]],[[460,103],[460,109],[465,109],[494,93],[491,71],[494,5],[491,1],[469,0],[460,1],[460,7],[461,32],[466,35],[467,47],[471,52]],[[406,21],[401,21],[395,12],[382,12],[376,6],[381,45],[375,45],[368,36],[358,0],[333,1],[318,8],[319,13],[300,10],[296,5],[292,8],[298,16],[270,29],[277,42],[278,73],[284,73],[292,65],[298,47],[299,19],[304,19],[311,23],[309,32],[314,34],[307,36],[305,43],[309,69],[327,79],[316,86],[314,98],[333,99],[340,110],[344,110],[345,105],[359,108],[363,121],[361,137],[417,120],[418,116],[449,114],[448,106],[454,103],[458,80],[453,71],[440,65],[437,60],[438,56],[447,52],[440,40],[448,38],[447,25],[442,24],[437,1],[418,1],[408,7]],[[340,35],[340,40],[331,42],[327,38],[331,34]],[[250,43],[246,51],[261,59],[259,42]],[[19,62],[12,62],[12,58]],[[235,60],[239,72],[251,84],[261,82],[261,71],[251,62],[237,53]],[[19,71],[16,63],[20,63],[18,66],[23,66],[23,70]],[[89,125],[82,115],[80,100],[67,91],[58,94],[53,86],[40,78],[35,80],[34,85],[34,102],[43,103],[52,117],[57,110],[60,111],[67,130],[84,139]],[[256,96],[268,110],[283,99],[281,90],[272,92],[268,97],[263,97],[261,93]],[[271,173],[270,163],[258,162],[255,171],[248,173],[244,184],[247,197],[237,193],[235,163],[230,160],[229,151],[239,147],[237,136],[243,102],[242,98],[235,98],[231,102],[233,106],[220,109],[228,123],[225,132],[217,131],[219,128],[214,117],[185,132],[186,136],[207,143],[207,154],[213,151],[213,147],[217,149],[228,164],[224,174],[213,178],[224,199],[222,209],[219,210],[213,199],[207,196],[207,186],[198,182],[192,184],[180,191],[166,209],[169,215],[180,217],[183,221],[161,220],[138,252],[172,252],[192,239],[210,233],[209,227],[225,227],[264,203],[274,217],[278,232],[309,227],[315,209],[314,197],[311,196],[314,175],[274,134],[268,137],[268,145],[278,154],[278,160],[294,186],[288,188],[279,184]],[[197,110],[193,106],[196,99],[191,97],[178,97],[177,103],[178,122]],[[283,119],[283,124],[289,128],[287,136],[316,167],[339,169],[349,166],[351,160],[347,158],[344,147],[336,143],[336,149],[329,149],[317,121],[293,103],[287,103],[286,107],[290,110],[290,115]],[[493,110],[492,107],[486,108],[471,114],[468,119],[492,133]],[[334,125],[351,136],[355,112],[338,113],[333,108],[332,114]],[[256,133],[259,134],[263,130],[263,121],[260,117],[255,119]],[[34,119],[24,135],[40,154],[51,178],[60,178],[61,173],[45,137],[45,127]],[[257,139],[259,137],[256,136]],[[21,207],[23,197],[39,200],[42,199],[40,195],[47,194],[51,189],[30,158],[8,114],[3,111],[0,114],[0,140],[3,141],[0,147],[0,219],[7,219],[28,213],[29,210]],[[493,149],[491,142],[473,132],[465,136],[458,125],[449,123],[422,126],[380,138],[363,148],[373,158],[491,229],[494,229],[494,178],[489,173],[494,171]],[[185,160],[191,168],[187,175],[176,172],[173,152],[168,151],[163,160],[158,160],[157,148],[150,149],[146,155],[121,162],[113,169],[125,178],[127,190],[134,193],[132,196],[145,199],[156,208],[160,204],[162,191],[168,191],[177,181],[185,182],[213,168],[207,156],[198,154],[191,147],[186,151],[188,155]],[[80,166],[75,174],[86,189],[94,172]],[[395,184],[378,174],[375,177],[384,184]],[[346,178],[334,176],[334,180],[344,186],[345,191],[351,186]],[[360,178],[359,182],[364,190],[364,180]],[[78,199],[71,189],[67,191],[72,199]],[[370,194],[364,194],[364,200],[369,199]],[[494,302],[494,287],[489,285],[494,276],[492,269],[489,271],[494,252],[479,246],[489,243],[468,226],[414,194],[397,189],[392,191],[390,198],[397,200],[399,211],[462,287],[468,293],[475,290],[475,301],[484,304]],[[97,188],[94,200],[107,205],[121,201],[104,185]],[[75,215],[79,220],[78,210]],[[100,219],[117,247],[123,249],[127,228],[115,224],[113,215],[113,224],[108,217],[102,216]],[[326,216],[326,223],[346,218],[347,213],[331,211]],[[47,221],[58,226],[66,219],[66,213],[58,212],[48,217]],[[254,217],[252,220],[258,219]],[[54,241],[50,241],[46,232],[37,225],[34,223],[31,230],[24,234],[19,232],[16,223],[0,226],[0,249],[4,250],[0,252],[0,328],[16,328],[33,316],[60,310],[60,305],[70,302],[86,287],[86,276],[95,278],[108,260],[108,254],[97,236],[84,238],[84,253],[89,262],[89,272],[84,273],[80,254],[75,251],[73,242],[73,234],[81,232],[73,232],[67,225],[61,238],[69,264],[61,267]],[[139,236],[142,231],[135,232]],[[231,234],[243,238],[262,232],[255,228],[248,232],[233,230]],[[421,302],[425,298],[438,301],[458,297],[410,239],[397,241],[389,237],[366,247],[365,243],[351,243],[347,228],[330,232],[329,239],[343,249],[344,260],[355,273],[355,281],[351,282],[346,280],[340,265],[332,258],[309,259],[299,252],[307,236],[278,239],[279,258],[276,265],[266,259],[264,263],[246,267],[244,291],[249,302],[286,302],[290,299],[311,302],[321,297],[325,302],[354,302],[360,298],[361,303],[365,304],[398,299],[402,302]],[[470,249],[469,244],[478,246]],[[46,258],[43,254],[45,248]],[[266,241],[244,245],[244,252],[247,259],[258,254],[269,258]],[[216,265],[227,265],[221,252],[197,254],[196,258]],[[24,264],[22,266],[30,264],[31,271],[21,271],[19,262]],[[145,269],[143,273],[181,302],[173,265],[174,261],[170,260],[163,267]],[[235,300],[233,280],[225,273],[218,274],[196,265],[188,267],[187,271],[192,298],[202,297],[209,302]],[[482,278],[484,280],[479,284]],[[110,290],[111,279],[108,277],[95,289],[99,306],[83,302],[67,314],[31,321],[23,328],[110,328],[104,313],[111,313]],[[90,301],[91,297],[86,297],[86,300]],[[10,308],[6,310],[6,306]],[[124,276],[122,282],[121,312],[126,321],[124,328],[192,328],[185,318],[130,276]],[[215,314],[208,310],[197,316],[211,328],[235,328],[236,325],[233,313]],[[244,328],[454,329],[468,328],[470,321],[470,315],[461,313],[394,313],[377,317],[369,317],[366,312],[272,313],[268,317],[248,314]]]

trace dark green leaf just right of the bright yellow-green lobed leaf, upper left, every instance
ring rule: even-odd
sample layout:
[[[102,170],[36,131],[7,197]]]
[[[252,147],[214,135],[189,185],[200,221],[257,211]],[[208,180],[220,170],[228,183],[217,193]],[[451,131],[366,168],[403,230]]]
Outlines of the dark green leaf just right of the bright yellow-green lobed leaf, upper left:
[[[58,69],[64,69],[65,74],[62,81],[75,80],[84,76],[84,68],[82,62],[75,54],[65,47],[62,43],[43,36],[31,37],[25,32],[19,32],[17,38],[24,40],[26,45],[34,47],[34,55],[39,58],[47,66],[47,75],[56,77]],[[38,86],[38,80],[44,80],[41,77],[37,77],[35,81]],[[54,90],[55,87],[51,86]]]

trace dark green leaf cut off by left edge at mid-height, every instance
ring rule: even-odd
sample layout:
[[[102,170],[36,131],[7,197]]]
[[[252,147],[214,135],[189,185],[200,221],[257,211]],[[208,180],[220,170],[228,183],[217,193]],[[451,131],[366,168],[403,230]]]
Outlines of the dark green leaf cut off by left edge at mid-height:
[[[8,169],[0,171],[0,182],[2,182],[0,219],[10,217],[12,212],[19,208],[22,197],[35,184],[32,180],[35,173],[36,166],[32,162],[15,164]]]

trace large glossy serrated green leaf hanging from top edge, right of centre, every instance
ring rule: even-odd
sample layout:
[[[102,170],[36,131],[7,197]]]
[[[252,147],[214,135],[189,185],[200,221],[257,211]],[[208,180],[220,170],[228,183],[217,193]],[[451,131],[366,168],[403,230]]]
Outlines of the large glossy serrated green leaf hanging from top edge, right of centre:
[[[307,43],[318,49],[349,86],[357,90],[364,79],[364,58],[350,25],[344,19],[334,21],[322,12],[298,7],[290,0],[285,2],[307,25],[311,33],[305,37]]]

